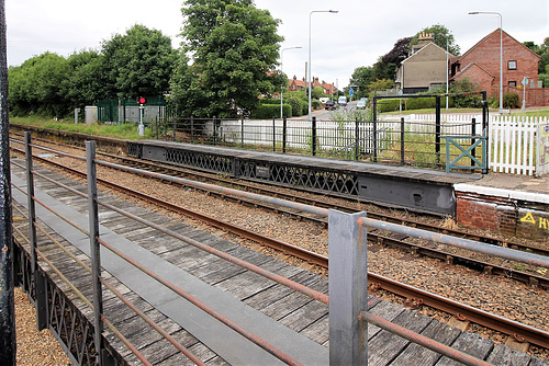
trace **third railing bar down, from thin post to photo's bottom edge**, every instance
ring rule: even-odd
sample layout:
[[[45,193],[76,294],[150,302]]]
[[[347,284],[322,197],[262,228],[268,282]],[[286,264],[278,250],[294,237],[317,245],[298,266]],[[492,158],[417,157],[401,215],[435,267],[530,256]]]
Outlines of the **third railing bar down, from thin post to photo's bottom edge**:
[[[132,264],[133,266],[135,266],[136,268],[138,268],[139,271],[142,271],[143,273],[149,275],[152,278],[154,278],[157,282],[159,282],[160,284],[165,285],[166,287],[168,287],[169,289],[171,289],[172,291],[175,291],[176,294],[178,294],[179,296],[181,296],[182,298],[184,298],[186,300],[188,300],[192,305],[197,306],[199,309],[201,309],[201,310],[205,311],[206,313],[209,313],[210,316],[214,317],[215,319],[217,319],[219,321],[221,321],[222,323],[224,323],[225,325],[227,325],[228,328],[231,328],[232,330],[234,330],[238,334],[243,335],[244,338],[246,338],[250,342],[253,342],[256,345],[260,346],[261,348],[264,348],[265,351],[267,351],[268,353],[270,353],[274,357],[279,358],[280,361],[282,361],[284,363],[287,363],[288,365],[295,365],[295,366],[302,365],[301,363],[299,363],[298,361],[293,359],[292,357],[290,357],[289,355],[287,355],[282,351],[278,350],[273,345],[271,345],[268,342],[264,341],[262,339],[258,338],[254,333],[245,330],[244,328],[242,328],[240,325],[238,325],[237,323],[235,323],[234,321],[232,321],[227,317],[225,317],[222,313],[215,311],[214,309],[212,309],[211,307],[209,307],[204,302],[200,301],[195,297],[191,296],[190,294],[186,293],[181,288],[177,287],[176,285],[173,285],[172,283],[170,283],[169,281],[167,281],[166,278],[159,276],[155,272],[153,272],[149,268],[143,266],[139,262],[133,260],[132,258],[130,258],[125,253],[121,252],[120,250],[115,249],[114,247],[112,247],[108,242],[101,240],[100,238],[97,238],[97,240],[98,240],[98,242],[101,243],[101,245],[105,247],[107,249],[109,249],[111,252],[113,252],[114,254],[116,254],[120,258],[122,258],[127,263]]]

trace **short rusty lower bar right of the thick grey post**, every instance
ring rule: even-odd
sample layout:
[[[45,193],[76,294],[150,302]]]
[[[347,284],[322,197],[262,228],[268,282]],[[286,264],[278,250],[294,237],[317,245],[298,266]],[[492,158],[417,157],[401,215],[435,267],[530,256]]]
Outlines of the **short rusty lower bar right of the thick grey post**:
[[[371,324],[378,325],[393,334],[402,336],[411,342],[417,343],[423,347],[429,348],[436,353],[442,354],[451,359],[460,362],[470,366],[490,366],[491,364],[473,357],[471,355],[464,354],[460,351],[453,350],[452,347],[447,346],[446,344],[434,341],[425,335],[417,334],[404,327],[392,323],[383,318],[373,316],[368,311],[360,311],[358,318],[362,321],[367,321]]]

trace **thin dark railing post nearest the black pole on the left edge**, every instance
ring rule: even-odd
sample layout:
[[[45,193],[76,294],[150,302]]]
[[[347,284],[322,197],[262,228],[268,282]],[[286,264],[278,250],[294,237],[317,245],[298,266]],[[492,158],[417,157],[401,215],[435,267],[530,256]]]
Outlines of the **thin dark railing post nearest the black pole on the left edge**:
[[[31,242],[31,273],[34,278],[34,297],[36,308],[36,328],[41,331],[47,328],[46,278],[38,271],[36,247],[36,209],[34,205],[34,174],[31,133],[25,131],[26,156],[26,203],[29,206],[29,240]]]

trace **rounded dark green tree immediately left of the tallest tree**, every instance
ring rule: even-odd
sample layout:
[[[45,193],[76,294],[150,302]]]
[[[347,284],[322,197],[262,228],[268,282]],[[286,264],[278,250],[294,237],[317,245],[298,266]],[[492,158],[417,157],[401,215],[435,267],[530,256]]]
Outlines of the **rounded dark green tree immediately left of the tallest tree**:
[[[138,24],[103,42],[102,55],[103,99],[163,94],[177,61],[168,36]]]

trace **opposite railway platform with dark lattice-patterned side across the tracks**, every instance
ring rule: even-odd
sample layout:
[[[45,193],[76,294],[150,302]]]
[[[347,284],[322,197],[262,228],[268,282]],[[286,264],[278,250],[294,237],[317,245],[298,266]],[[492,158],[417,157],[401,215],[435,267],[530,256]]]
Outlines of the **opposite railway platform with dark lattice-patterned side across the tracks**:
[[[453,184],[479,174],[161,140],[130,141],[128,155],[292,187],[358,197],[390,207],[453,216]]]

